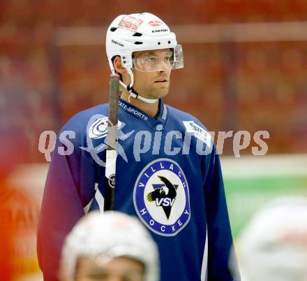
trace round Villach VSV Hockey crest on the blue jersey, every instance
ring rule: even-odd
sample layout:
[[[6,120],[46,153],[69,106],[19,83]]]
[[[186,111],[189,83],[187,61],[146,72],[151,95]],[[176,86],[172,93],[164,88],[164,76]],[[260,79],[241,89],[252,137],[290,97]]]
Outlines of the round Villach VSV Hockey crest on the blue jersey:
[[[171,159],[156,159],[140,172],[133,200],[140,220],[156,234],[174,236],[190,220],[188,182]]]

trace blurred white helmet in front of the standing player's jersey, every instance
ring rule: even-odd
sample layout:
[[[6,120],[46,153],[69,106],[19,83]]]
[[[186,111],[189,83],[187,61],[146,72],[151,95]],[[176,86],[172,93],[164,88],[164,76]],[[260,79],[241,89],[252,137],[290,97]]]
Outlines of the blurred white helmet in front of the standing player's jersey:
[[[118,211],[91,211],[77,222],[63,245],[61,280],[75,280],[79,257],[130,257],[144,264],[144,281],[158,280],[156,243],[140,220]]]

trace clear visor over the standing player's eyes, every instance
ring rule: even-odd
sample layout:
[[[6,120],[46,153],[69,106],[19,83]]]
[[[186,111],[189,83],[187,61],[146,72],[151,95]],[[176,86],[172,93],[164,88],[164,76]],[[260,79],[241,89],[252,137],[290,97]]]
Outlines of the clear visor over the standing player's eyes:
[[[184,54],[181,45],[171,49],[135,51],[133,68],[142,72],[170,71],[184,67]]]

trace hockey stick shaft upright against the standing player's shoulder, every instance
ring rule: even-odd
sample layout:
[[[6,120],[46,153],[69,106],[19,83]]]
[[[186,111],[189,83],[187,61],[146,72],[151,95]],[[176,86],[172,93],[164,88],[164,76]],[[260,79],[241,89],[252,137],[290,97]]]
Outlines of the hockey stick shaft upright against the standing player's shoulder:
[[[119,106],[119,75],[110,75],[109,122],[107,124],[107,152],[105,159],[105,211],[114,210],[115,175],[117,162]]]

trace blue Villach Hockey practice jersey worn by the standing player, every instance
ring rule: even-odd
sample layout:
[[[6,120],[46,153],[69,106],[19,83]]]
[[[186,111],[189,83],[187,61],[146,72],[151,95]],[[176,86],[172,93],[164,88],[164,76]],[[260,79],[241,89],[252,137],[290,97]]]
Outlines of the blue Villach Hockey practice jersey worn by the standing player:
[[[157,119],[119,99],[114,209],[137,216],[158,244],[161,281],[234,280],[220,161],[207,129],[160,100]],[[103,210],[108,105],[77,113],[52,153],[38,225],[45,280],[57,280],[66,234]],[[148,253],[150,255],[150,253]]]

